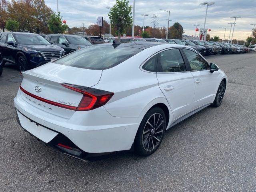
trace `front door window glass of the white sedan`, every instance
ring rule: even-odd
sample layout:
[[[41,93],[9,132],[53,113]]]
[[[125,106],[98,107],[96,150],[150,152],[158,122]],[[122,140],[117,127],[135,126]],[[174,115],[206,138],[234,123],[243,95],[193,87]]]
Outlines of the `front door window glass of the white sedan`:
[[[183,49],[183,51],[188,58],[188,62],[192,71],[207,69],[206,62],[200,55],[188,49]]]

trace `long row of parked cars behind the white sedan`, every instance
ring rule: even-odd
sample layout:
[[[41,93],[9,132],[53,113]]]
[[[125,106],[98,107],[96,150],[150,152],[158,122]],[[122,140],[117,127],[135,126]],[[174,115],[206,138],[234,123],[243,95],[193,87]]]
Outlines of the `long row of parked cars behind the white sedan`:
[[[17,64],[20,71],[37,67],[65,54],[82,49],[93,44],[113,42],[117,37],[104,40],[98,36],[77,36],[66,34],[38,34],[23,32],[0,33],[0,74],[6,62]],[[202,55],[234,54],[249,52],[243,45],[221,42],[185,40],[185,39],[157,39],[121,37],[121,43],[138,41],[160,42],[187,45]],[[254,49],[255,50],[255,49]]]

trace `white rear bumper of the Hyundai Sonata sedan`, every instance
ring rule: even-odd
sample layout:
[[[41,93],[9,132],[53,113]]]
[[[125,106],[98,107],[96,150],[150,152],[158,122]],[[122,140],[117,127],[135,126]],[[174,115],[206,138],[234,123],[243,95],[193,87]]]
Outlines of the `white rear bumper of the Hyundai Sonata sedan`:
[[[60,142],[61,135],[60,138],[65,138],[62,142],[74,145],[81,152],[79,156],[85,159],[96,154],[130,150],[142,120],[142,117],[113,117],[104,107],[74,112],[71,118],[62,118],[34,107],[22,98],[20,90],[14,98],[14,106],[18,122],[27,132],[49,146],[56,144],[56,140]],[[53,147],[59,149],[56,145]]]

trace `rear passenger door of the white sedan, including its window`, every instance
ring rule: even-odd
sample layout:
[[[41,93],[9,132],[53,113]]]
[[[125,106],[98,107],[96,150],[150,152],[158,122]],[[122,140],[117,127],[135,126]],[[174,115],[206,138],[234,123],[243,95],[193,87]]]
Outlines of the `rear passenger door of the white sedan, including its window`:
[[[160,52],[157,71],[159,87],[168,100],[174,119],[190,112],[195,84],[192,74],[186,70],[180,50],[172,48]]]

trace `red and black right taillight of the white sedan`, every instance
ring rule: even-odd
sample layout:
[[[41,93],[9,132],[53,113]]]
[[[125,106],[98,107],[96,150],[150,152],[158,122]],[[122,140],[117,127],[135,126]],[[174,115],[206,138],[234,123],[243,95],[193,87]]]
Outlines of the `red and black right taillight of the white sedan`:
[[[62,86],[70,90],[83,94],[83,97],[76,108],[76,111],[88,111],[106,104],[114,95],[112,92],[84,87],[74,84],[61,83]]]

